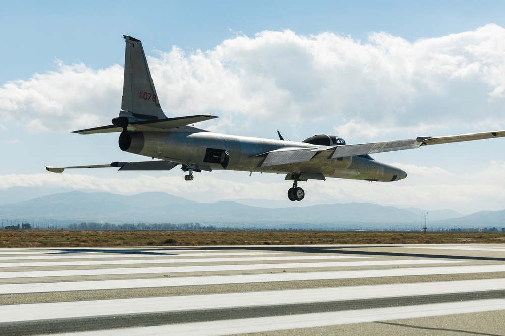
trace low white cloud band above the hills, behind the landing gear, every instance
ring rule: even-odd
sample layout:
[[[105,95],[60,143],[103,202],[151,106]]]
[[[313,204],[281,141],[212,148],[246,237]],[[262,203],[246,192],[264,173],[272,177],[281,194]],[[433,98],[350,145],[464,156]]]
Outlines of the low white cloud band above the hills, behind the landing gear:
[[[502,210],[505,204],[505,162],[495,161],[474,174],[456,175],[440,167],[422,167],[394,163],[408,173],[405,180],[393,183],[369,183],[345,179],[328,179],[300,183],[308,201],[322,203],[369,202],[381,205],[415,206],[427,210],[450,208],[462,213],[479,210]],[[115,177],[73,173],[8,174],[0,176],[0,189],[15,186],[48,189],[75,189],[136,194],[162,191],[188,199],[214,202],[240,198],[286,200],[288,181],[272,175],[255,174],[235,181],[229,172],[197,174],[192,182],[181,174],[151,176],[146,174]],[[226,176],[225,176],[226,174]],[[273,182],[272,182],[273,181]],[[304,206],[306,204],[295,204]]]

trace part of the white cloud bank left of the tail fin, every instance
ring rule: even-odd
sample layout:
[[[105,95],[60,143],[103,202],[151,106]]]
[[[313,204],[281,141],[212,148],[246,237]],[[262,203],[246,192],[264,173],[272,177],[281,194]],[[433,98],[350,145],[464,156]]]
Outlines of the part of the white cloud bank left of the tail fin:
[[[71,131],[109,122],[121,107],[122,74],[119,65],[93,70],[58,62],[58,71],[0,88],[3,120],[25,123],[32,132]]]

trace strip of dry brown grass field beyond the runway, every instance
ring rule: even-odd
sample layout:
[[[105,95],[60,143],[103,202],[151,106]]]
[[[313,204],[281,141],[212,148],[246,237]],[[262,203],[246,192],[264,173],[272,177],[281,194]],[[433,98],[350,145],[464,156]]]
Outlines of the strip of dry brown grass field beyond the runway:
[[[505,243],[502,232],[2,230],[0,247]]]

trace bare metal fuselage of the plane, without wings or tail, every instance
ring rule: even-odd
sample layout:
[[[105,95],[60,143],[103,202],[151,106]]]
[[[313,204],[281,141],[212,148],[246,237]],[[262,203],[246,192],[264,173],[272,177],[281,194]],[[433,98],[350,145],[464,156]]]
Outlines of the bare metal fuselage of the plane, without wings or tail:
[[[126,140],[125,140],[126,139]],[[233,136],[183,126],[170,130],[124,131],[122,150],[187,166],[282,174],[315,173],[324,177],[390,182],[407,174],[396,167],[364,156],[329,159],[324,151],[314,152],[307,162],[262,166],[264,153],[282,148],[320,148],[303,142]],[[211,153],[210,153],[211,152]],[[224,154],[226,152],[226,154]],[[215,154],[214,156],[212,154]],[[316,154],[317,153],[317,154]],[[226,165],[219,155],[228,156]]]

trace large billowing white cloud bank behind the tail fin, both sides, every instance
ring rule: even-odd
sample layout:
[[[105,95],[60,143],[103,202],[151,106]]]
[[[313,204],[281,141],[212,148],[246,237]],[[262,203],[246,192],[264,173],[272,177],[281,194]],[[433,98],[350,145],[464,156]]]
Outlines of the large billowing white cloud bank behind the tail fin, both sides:
[[[365,123],[372,137],[414,127],[503,126],[504,50],[505,29],[494,24],[413,43],[387,33],[362,42],[285,30],[239,35],[207,51],[173,47],[148,61],[170,116],[217,113],[228,119],[213,126],[221,131],[266,122],[307,129],[319,121],[345,133]],[[0,111],[31,131],[109,123],[122,79],[119,65],[59,64],[4,84]]]

